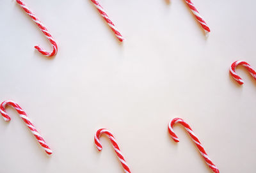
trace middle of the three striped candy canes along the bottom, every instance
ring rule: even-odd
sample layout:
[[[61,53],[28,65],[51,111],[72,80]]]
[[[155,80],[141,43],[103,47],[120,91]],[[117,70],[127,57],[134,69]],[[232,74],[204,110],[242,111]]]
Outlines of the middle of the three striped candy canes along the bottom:
[[[102,145],[100,144],[100,135],[102,135],[103,133],[105,133],[108,136],[109,140],[111,141],[111,143],[115,149],[115,152],[118,156],[118,159],[120,160],[120,162],[124,168],[124,171],[126,173],[131,173],[127,163],[124,160],[124,156],[121,153],[120,148],[118,147],[118,144],[116,143],[115,137],[111,134],[111,132],[109,132],[109,130],[106,130],[106,128],[100,128],[94,137],[94,142],[95,142],[95,146],[97,147],[97,149],[99,151],[102,150]]]

